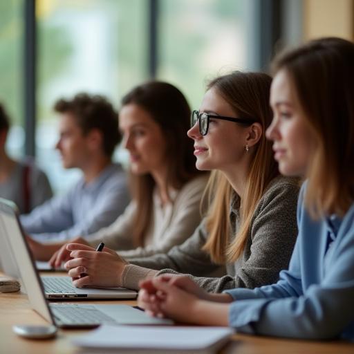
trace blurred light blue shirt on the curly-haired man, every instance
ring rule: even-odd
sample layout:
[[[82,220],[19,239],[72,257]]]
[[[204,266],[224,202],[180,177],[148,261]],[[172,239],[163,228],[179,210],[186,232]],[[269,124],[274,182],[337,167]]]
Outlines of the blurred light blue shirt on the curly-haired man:
[[[21,215],[24,230],[38,241],[65,241],[111,225],[130,201],[127,176],[120,165],[106,167],[93,182],[84,178],[66,194]]]

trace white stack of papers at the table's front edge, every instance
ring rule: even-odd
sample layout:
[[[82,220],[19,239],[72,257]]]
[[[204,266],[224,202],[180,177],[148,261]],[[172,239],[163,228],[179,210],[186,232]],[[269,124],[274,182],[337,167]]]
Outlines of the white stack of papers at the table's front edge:
[[[104,325],[73,344],[84,353],[215,353],[233,334],[227,327]]]

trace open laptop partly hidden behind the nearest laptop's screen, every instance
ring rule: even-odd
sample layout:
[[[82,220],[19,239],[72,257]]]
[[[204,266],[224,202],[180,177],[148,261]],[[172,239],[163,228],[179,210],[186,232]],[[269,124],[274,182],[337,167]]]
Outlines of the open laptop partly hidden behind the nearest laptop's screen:
[[[24,239],[14,204],[0,198],[1,264],[6,274],[19,278],[21,258],[15,260],[15,249],[10,241]],[[70,277],[41,277],[48,299],[136,299],[135,290],[124,288],[75,288]]]

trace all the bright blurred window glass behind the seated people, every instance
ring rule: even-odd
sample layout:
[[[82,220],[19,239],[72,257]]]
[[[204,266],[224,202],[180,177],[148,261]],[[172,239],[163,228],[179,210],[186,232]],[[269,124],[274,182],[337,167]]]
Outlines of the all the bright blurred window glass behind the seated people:
[[[246,67],[249,1],[157,0],[155,8],[150,0],[36,0],[36,157],[55,190],[67,189],[79,174],[64,171],[55,151],[53,105],[60,97],[99,93],[118,106],[124,93],[150,77],[149,58],[155,57],[158,80],[176,84],[198,108],[207,80]],[[24,3],[0,1],[0,100],[14,120],[13,156],[24,154]],[[157,21],[152,56],[151,19]]]

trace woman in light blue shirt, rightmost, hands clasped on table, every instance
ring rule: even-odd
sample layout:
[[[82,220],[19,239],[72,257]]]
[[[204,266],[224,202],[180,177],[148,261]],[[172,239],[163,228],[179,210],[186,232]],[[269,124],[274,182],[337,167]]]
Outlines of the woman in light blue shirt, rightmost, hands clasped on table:
[[[311,41],[274,62],[267,131],[287,176],[304,176],[299,236],[270,286],[207,294],[185,277],[142,283],[139,304],[180,322],[240,332],[354,339],[354,44]]]

